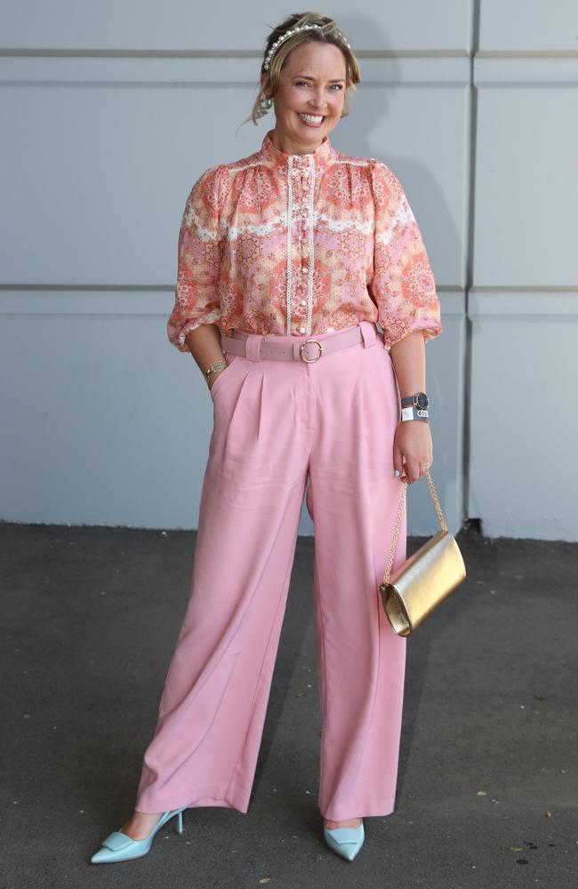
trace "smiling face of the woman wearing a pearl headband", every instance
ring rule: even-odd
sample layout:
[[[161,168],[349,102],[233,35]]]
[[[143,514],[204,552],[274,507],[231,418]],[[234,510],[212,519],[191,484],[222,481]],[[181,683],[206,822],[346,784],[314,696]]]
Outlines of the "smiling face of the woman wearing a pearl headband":
[[[309,41],[289,53],[274,99],[277,148],[286,154],[315,151],[341,117],[345,76],[343,53],[334,44]],[[261,75],[261,83],[265,79]]]

